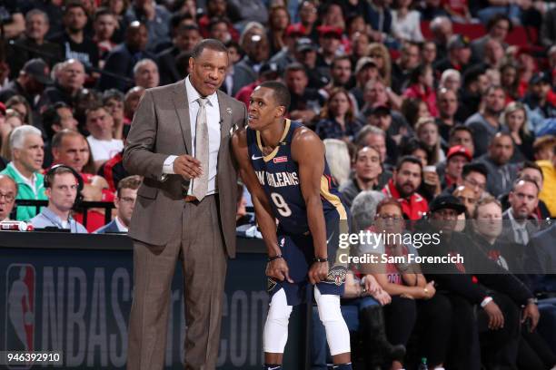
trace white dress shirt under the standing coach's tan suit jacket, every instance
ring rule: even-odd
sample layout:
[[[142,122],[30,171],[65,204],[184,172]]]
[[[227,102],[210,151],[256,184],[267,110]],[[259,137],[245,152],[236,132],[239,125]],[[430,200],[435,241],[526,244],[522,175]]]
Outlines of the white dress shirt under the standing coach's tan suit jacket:
[[[185,78],[185,90],[187,92],[187,101],[189,103],[189,124],[191,127],[191,148],[192,155],[195,155],[195,132],[197,122],[197,112],[199,112],[199,102],[197,99],[201,97],[189,81],[189,76]],[[220,149],[220,108],[218,106],[218,95],[213,93],[206,97],[208,102],[205,106],[206,122],[208,124],[209,134],[209,172],[208,172],[208,190],[206,195],[217,192],[216,169],[218,166],[218,151]],[[170,155],[164,161],[163,173],[174,173],[174,160],[177,156]],[[188,195],[193,193],[193,182],[189,183]]]

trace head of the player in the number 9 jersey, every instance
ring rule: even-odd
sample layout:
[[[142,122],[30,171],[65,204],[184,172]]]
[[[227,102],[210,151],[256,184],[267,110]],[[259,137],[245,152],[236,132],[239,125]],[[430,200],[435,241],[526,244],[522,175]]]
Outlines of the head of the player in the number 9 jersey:
[[[249,127],[262,130],[265,126],[282,120],[290,108],[290,92],[283,83],[267,81],[257,86],[249,101]]]

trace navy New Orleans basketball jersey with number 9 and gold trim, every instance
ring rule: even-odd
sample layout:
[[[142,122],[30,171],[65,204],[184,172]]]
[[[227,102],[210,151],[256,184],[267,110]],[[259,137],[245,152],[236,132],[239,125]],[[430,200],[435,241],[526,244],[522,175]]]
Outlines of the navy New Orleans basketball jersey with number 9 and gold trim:
[[[309,231],[299,168],[292,158],[293,132],[302,127],[301,123],[286,119],[280,143],[266,156],[262,151],[260,132],[247,128],[247,146],[253,169],[270,199],[274,216],[279,220],[280,231],[292,235],[305,234]],[[331,212],[337,212],[336,217],[347,219],[346,210],[340,200],[340,193],[330,174],[326,159],[324,159],[324,171],[321,177],[321,200],[323,200],[325,218]]]

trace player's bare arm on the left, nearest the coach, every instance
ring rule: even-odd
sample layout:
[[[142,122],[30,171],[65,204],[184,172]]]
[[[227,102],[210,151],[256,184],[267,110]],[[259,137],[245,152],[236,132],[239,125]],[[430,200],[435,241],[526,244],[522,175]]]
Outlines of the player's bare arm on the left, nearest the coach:
[[[268,251],[269,258],[282,255],[280,247],[278,247],[278,239],[276,238],[276,219],[273,215],[273,209],[268,201],[268,197],[263,187],[257,179],[257,175],[253,170],[251,160],[249,159],[249,151],[247,150],[246,131],[238,130],[232,136],[233,156],[239,167],[239,174],[243,183],[251,194],[255,216],[263,234],[264,244]],[[289,269],[283,258],[273,259],[267,268],[266,275],[276,277],[280,280],[284,278],[290,282],[293,280],[289,276]]]

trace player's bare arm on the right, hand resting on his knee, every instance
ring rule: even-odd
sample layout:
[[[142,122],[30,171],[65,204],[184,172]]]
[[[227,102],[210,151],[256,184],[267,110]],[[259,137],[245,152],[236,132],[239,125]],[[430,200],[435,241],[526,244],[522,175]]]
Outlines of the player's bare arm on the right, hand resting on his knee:
[[[326,223],[321,200],[321,178],[324,171],[323,141],[309,129],[295,131],[292,141],[292,157],[299,166],[299,182],[307,209],[309,230],[313,237],[315,258],[328,258],[326,247]],[[309,270],[312,284],[319,283],[328,275],[328,262],[313,263]]]

